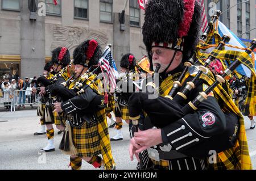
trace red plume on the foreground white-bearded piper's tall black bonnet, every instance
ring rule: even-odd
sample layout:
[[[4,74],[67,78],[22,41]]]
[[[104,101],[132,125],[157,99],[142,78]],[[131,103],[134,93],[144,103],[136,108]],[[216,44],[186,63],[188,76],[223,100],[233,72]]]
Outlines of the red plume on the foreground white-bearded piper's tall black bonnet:
[[[183,0],[184,3],[184,16],[183,21],[179,24],[179,37],[187,36],[192,22],[196,0]]]

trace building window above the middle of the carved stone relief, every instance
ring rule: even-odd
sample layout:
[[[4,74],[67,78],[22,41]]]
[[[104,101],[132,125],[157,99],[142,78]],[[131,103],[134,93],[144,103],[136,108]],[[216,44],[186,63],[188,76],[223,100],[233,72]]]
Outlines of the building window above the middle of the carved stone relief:
[[[88,0],[75,0],[75,18],[88,19]]]

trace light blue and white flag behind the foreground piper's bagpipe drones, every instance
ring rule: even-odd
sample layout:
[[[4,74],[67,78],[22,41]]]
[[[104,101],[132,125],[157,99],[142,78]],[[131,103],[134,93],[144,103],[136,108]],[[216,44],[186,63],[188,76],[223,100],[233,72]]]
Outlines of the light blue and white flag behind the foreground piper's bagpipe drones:
[[[246,48],[246,45],[243,44],[242,41],[220,21],[218,21],[218,33],[220,33],[220,36],[228,35],[230,37],[230,41],[227,44]],[[236,50],[236,51],[241,51],[241,52],[245,51],[245,50],[227,47],[227,46],[225,46],[225,50]],[[238,66],[238,68],[236,70],[238,73],[245,75],[246,77],[251,77],[251,71],[243,64]]]

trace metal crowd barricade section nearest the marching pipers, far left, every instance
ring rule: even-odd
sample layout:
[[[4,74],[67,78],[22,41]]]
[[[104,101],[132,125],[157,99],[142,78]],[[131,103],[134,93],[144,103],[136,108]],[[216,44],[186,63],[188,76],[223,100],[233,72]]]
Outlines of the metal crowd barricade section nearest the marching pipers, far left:
[[[35,105],[39,102],[39,96],[32,94],[32,90],[15,90],[13,99],[13,108],[25,105]]]

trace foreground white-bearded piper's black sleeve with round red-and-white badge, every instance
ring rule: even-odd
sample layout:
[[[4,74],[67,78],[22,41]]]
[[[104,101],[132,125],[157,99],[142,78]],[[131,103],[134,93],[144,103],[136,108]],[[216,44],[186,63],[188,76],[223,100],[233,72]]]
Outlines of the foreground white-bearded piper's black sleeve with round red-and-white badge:
[[[198,111],[162,128],[162,139],[170,142],[177,151],[182,151],[221,134],[226,127],[225,121],[225,115],[217,100],[208,96],[200,104]]]

